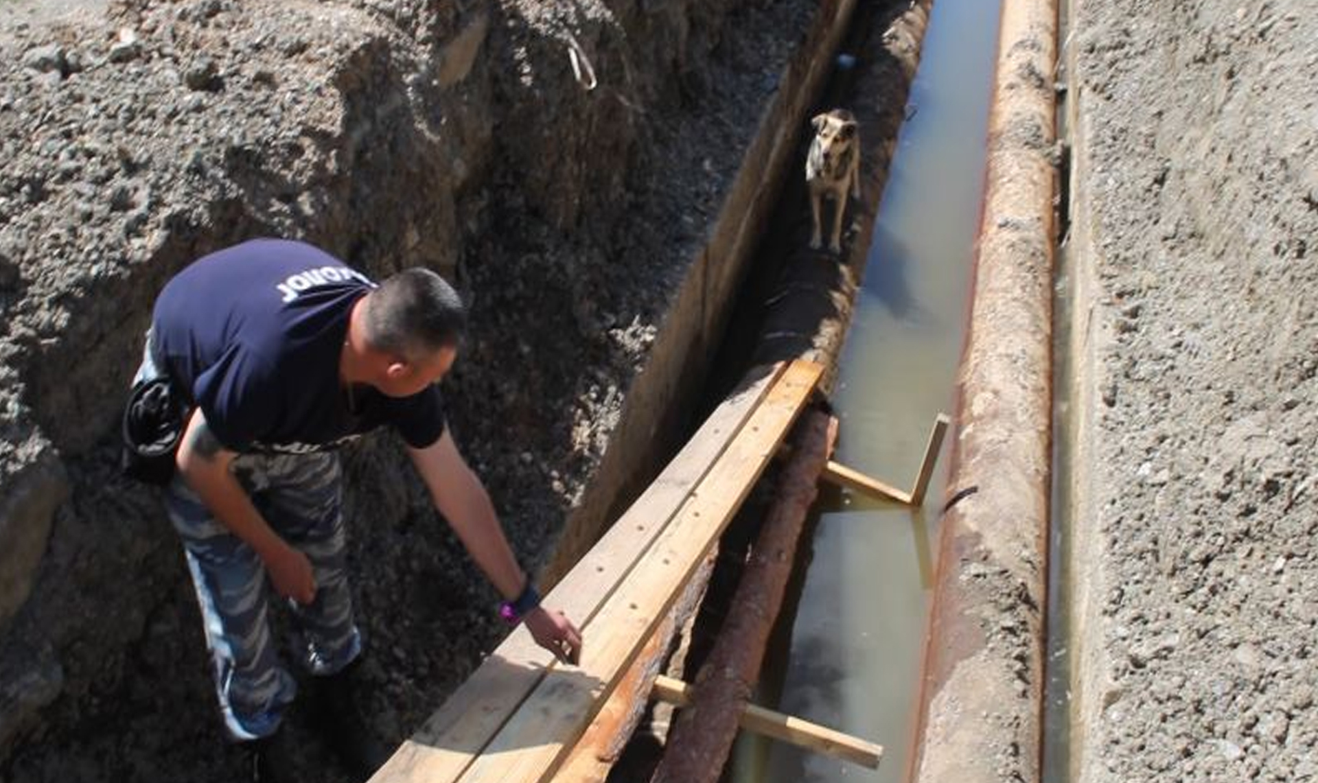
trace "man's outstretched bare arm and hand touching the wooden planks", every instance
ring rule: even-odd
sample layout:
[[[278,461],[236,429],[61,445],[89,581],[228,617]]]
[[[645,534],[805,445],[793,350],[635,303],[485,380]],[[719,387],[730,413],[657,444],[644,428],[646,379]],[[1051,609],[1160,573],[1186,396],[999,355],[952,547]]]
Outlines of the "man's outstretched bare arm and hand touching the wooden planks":
[[[457,451],[448,430],[426,448],[410,448],[413,464],[430,489],[435,508],[448,519],[468,554],[505,598],[514,600],[529,583],[517,564],[494,504],[476,473]],[[523,618],[535,642],[561,660],[576,662],[581,634],[561,612],[538,606]]]

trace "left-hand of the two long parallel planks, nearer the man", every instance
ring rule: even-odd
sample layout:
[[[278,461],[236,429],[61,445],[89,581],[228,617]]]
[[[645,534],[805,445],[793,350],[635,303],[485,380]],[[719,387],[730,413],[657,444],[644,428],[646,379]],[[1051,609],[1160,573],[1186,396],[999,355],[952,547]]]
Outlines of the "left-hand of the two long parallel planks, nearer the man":
[[[546,605],[561,609],[584,627],[676,517],[786,369],[786,364],[776,364],[747,373],[659,477],[546,596]],[[552,660],[525,627],[517,627],[399,746],[370,778],[372,783],[456,778],[535,688]]]

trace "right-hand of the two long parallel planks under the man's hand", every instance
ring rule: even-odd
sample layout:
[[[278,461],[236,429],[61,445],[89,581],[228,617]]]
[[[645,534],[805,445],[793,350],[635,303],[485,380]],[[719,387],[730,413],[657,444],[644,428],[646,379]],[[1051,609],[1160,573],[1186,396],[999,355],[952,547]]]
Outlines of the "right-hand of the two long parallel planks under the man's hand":
[[[580,667],[554,664],[494,740],[459,778],[464,783],[543,782],[581,737],[602,696],[631,666],[683,585],[741,508],[822,368],[793,361],[737,439],[687,498],[677,518],[588,624]],[[427,783],[445,779],[430,778]]]

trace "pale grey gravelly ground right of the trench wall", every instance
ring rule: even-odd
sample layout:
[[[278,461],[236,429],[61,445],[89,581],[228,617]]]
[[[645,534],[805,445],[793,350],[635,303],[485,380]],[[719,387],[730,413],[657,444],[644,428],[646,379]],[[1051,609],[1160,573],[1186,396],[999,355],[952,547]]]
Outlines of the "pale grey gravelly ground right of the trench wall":
[[[1072,779],[1311,780],[1318,17],[1073,5]]]

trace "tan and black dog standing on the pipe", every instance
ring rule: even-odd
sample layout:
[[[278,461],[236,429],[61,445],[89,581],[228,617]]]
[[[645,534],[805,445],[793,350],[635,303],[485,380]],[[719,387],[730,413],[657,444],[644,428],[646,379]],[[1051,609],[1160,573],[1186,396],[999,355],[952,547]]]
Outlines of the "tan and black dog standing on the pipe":
[[[805,185],[811,191],[811,248],[820,248],[820,210],[824,196],[833,196],[833,233],[828,246],[842,252],[842,214],[846,196],[861,198],[861,132],[855,116],[846,109],[833,109],[811,120],[815,138],[805,156]]]

